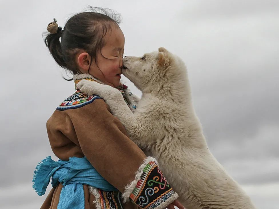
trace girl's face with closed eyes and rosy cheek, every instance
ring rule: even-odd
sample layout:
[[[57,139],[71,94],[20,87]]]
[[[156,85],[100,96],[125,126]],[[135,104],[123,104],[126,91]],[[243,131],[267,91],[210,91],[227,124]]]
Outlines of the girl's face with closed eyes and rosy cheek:
[[[104,36],[105,46],[97,52],[96,60],[93,59],[88,73],[104,83],[117,87],[120,85],[120,78],[123,66],[123,53],[125,38],[118,26],[114,26]]]

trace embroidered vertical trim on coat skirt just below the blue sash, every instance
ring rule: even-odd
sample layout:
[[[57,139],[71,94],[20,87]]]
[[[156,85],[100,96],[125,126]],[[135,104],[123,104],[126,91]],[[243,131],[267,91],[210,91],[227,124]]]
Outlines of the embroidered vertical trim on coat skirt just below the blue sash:
[[[101,189],[97,189],[97,191],[100,194],[100,198],[97,200],[97,205],[100,205],[101,209],[123,209],[121,203],[121,192],[105,192]]]

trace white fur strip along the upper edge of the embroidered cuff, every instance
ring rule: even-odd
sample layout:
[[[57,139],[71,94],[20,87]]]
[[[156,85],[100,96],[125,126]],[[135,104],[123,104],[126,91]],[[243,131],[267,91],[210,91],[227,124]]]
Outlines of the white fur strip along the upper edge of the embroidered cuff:
[[[158,165],[158,162],[155,158],[149,156],[147,157],[143,162],[142,164],[139,166],[139,169],[137,170],[137,172],[135,173],[135,179],[130,183],[128,184],[127,186],[125,186],[125,191],[124,193],[122,194],[122,198],[123,198],[123,203],[126,203],[128,202],[129,200],[129,197],[131,195],[131,193],[133,192],[133,190],[135,189],[136,185],[137,185],[137,182],[140,180],[141,176],[142,176],[142,173],[144,172],[144,168],[147,166],[148,163],[150,162],[156,162],[156,164]],[[159,166],[159,165],[158,165]]]

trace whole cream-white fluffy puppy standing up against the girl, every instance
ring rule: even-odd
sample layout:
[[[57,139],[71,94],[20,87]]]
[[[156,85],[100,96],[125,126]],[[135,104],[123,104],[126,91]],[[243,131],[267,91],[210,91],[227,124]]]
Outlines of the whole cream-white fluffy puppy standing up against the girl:
[[[189,209],[255,208],[208,149],[183,61],[161,47],[125,57],[123,65],[123,74],[143,92],[134,114],[115,88],[86,80],[77,87],[106,101],[131,140],[158,160],[178,200]]]

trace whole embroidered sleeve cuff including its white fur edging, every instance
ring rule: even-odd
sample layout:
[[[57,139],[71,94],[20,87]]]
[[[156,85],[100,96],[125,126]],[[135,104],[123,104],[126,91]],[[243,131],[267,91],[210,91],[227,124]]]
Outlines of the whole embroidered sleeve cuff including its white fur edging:
[[[130,199],[141,208],[165,209],[178,198],[178,194],[164,177],[156,159],[148,157],[139,167],[135,180],[126,186],[122,197],[123,202]]]

